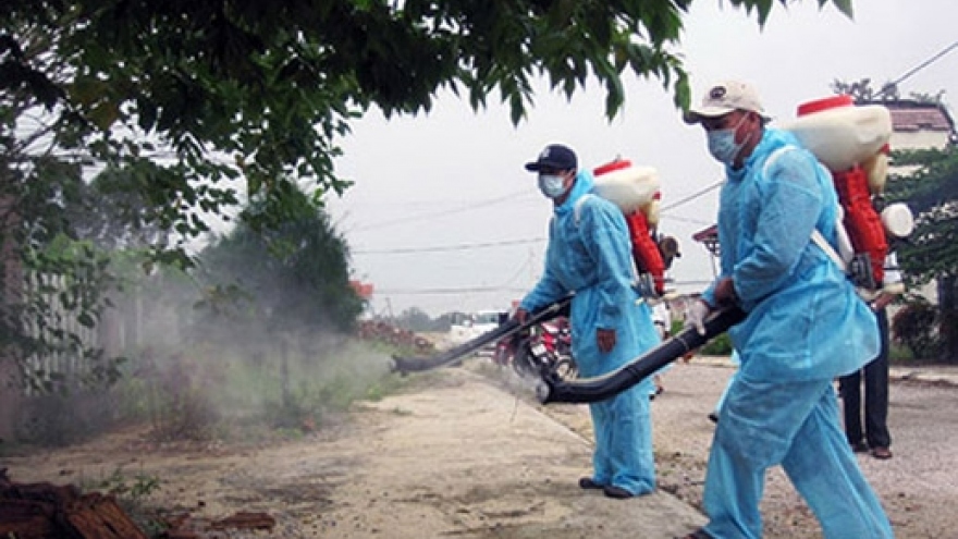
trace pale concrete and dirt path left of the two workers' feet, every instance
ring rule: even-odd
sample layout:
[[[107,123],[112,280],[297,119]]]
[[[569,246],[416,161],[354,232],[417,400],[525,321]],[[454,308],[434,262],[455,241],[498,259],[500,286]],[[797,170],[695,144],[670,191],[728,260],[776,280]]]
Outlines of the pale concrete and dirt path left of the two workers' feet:
[[[666,493],[616,501],[578,489],[589,441],[488,379],[445,369],[425,380],[419,391],[355,406],[334,429],[274,446],[146,451],[125,432],[4,465],[19,481],[118,467],[155,475],[162,487],[151,505],[205,519],[268,513],[277,520],[268,537],[278,538],[618,538],[655,523],[642,534],[654,539],[701,524]]]

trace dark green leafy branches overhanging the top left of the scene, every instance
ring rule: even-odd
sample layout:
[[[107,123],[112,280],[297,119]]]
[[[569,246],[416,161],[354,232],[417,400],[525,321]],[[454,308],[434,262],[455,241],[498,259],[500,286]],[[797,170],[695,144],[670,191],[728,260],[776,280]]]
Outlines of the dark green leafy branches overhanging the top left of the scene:
[[[850,0],[814,1],[851,13]],[[729,3],[763,24],[788,0]],[[624,77],[637,74],[660,81],[684,107],[688,77],[674,47],[690,4],[7,0],[2,253],[22,254],[29,271],[87,274],[73,280],[82,290],[99,279],[88,271],[101,267],[99,254],[72,249],[89,256],[56,266],[37,253],[54,238],[102,240],[128,225],[151,242],[153,261],[188,265],[184,242],[209,232],[209,217],[231,215],[241,194],[267,208],[244,215],[249,231],[277,230],[294,182],[312,185],[316,207],[349,185],[333,160],[353,119],[371,107],[428,112],[443,90],[476,109],[499,99],[518,123],[533,106],[533,81],[570,96],[591,78],[605,88],[612,117]],[[95,174],[99,204],[115,209],[112,223],[67,211],[85,207]],[[4,305],[13,298],[19,291],[4,291]],[[100,302],[90,305],[95,318]],[[16,315],[7,318],[2,344],[23,329]]]

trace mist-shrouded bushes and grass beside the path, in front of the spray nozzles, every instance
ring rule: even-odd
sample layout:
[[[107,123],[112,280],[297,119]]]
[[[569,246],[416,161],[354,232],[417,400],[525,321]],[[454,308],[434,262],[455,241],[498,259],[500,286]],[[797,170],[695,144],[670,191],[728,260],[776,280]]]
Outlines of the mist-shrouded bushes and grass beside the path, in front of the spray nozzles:
[[[126,277],[101,319],[113,331],[100,343],[121,358],[111,383],[82,363],[35,369],[48,390],[24,396],[16,442],[64,445],[144,425],[157,443],[302,436],[393,391],[393,351],[353,333],[363,302],[345,243],[305,195],[288,196],[297,211],[286,222],[269,234],[237,226],[187,270],[144,275],[114,262]]]

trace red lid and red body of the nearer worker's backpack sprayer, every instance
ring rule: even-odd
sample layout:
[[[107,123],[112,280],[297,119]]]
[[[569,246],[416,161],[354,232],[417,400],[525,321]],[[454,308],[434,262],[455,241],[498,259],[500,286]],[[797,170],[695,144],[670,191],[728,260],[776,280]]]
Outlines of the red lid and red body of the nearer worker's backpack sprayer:
[[[798,115],[813,114],[835,107],[853,106],[855,99],[851,96],[833,96],[799,105]],[[856,164],[846,171],[832,172],[832,182],[838,192],[839,204],[845,210],[844,224],[851,240],[851,246],[856,254],[868,253],[875,283],[881,286],[885,275],[888,243],[882,220],[872,206],[868,174]]]

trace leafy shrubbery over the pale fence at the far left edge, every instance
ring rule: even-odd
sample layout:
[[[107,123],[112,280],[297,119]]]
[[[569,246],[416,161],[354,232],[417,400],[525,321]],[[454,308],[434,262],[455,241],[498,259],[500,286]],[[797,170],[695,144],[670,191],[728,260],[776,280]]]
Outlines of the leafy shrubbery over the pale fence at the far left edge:
[[[57,159],[35,160],[32,174],[0,170],[0,350],[14,359],[15,380],[33,390],[113,381],[119,358],[82,338],[115,285],[107,254],[71,222],[91,189]],[[67,358],[84,365],[70,377],[58,368]]]

